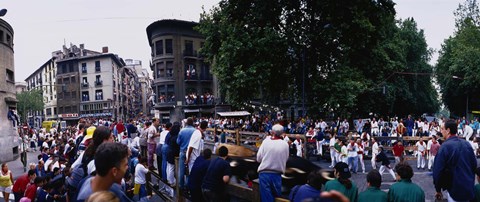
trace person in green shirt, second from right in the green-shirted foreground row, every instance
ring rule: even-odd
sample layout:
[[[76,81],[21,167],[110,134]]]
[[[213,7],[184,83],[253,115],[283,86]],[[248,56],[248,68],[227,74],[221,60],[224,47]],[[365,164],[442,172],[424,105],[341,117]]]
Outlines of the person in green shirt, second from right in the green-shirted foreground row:
[[[377,170],[371,170],[367,174],[368,188],[358,195],[358,202],[386,202],[387,193],[380,190],[382,176]]]

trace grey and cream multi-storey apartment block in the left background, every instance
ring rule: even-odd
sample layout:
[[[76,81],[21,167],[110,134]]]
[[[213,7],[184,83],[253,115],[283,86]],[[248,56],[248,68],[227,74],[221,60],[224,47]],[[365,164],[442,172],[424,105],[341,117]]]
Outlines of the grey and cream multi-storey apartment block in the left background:
[[[123,118],[121,78],[125,63],[117,55],[89,51],[80,45],[64,48],[64,58],[57,62],[58,116],[63,120],[79,118]]]

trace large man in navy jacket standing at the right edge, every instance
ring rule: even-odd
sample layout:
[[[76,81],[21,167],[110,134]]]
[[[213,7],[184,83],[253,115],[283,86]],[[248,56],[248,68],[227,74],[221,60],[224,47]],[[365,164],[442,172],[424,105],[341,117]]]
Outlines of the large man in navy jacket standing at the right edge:
[[[467,201],[475,197],[475,169],[477,159],[470,143],[457,136],[457,123],[447,120],[441,126],[443,142],[433,163],[433,182],[436,197],[443,198],[447,190],[449,200]]]

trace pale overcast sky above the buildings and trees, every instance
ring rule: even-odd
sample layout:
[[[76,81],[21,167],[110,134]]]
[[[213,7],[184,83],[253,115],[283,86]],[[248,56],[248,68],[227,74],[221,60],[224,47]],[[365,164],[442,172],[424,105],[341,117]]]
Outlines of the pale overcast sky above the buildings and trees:
[[[425,32],[430,48],[440,50],[453,34],[453,11],[463,0],[394,0],[397,18],[413,17]],[[123,59],[141,60],[149,69],[150,46],[146,27],[161,19],[198,22],[218,0],[1,0],[1,17],[14,29],[15,80],[24,81],[51,53],[66,44],[109,52]],[[436,63],[435,52],[431,64]]]

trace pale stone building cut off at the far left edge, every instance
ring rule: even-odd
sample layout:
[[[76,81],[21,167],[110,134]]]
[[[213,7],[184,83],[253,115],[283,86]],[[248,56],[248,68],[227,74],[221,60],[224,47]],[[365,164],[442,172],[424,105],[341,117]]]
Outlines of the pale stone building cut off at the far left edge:
[[[17,108],[15,95],[15,66],[13,59],[13,28],[0,19],[0,162],[12,161],[19,156],[19,136],[15,124],[8,120],[9,110]]]

